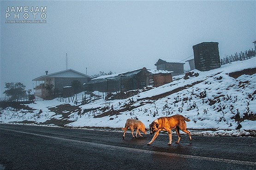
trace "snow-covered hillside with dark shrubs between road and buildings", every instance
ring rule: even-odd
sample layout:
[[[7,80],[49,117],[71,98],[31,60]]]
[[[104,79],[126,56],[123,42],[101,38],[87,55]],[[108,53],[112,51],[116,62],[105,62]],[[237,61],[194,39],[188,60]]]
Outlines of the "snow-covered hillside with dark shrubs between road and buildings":
[[[126,119],[134,118],[149,128],[158,117],[181,114],[191,119],[188,129],[256,130],[256,74],[250,68],[256,68],[256,57],[210,71],[193,70],[199,75],[189,79],[174,76],[172,83],[127,99],[101,98],[81,106],[54,99],[29,104],[27,109],[6,108],[0,112],[0,123],[53,125],[58,120],[55,125],[121,128]]]

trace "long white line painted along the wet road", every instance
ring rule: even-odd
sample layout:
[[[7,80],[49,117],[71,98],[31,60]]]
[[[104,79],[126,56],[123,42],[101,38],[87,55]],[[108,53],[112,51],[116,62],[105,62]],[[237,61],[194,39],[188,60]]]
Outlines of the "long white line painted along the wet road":
[[[0,128],[0,129],[1,130],[9,130],[9,129],[4,129],[4,128]],[[254,165],[254,166],[256,166],[256,162],[249,162],[249,161],[210,158],[210,157],[202,157],[202,156],[184,155],[184,154],[178,154],[178,153],[165,153],[165,152],[150,151],[150,150],[136,149],[136,148],[130,148],[130,147],[119,147],[119,146],[113,146],[113,145],[106,145],[106,144],[101,144],[101,143],[77,141],[77,140],[73,140],[73,139],[65,139],[65,138],[61,138],[61,137],[41,135],[41,134],[18,131],[18,130],[9,130],[9,131],[14,131],[14,132],[24,133],[24,134],[29,134],[29,135],[35,135],[35,136],[41,136],[41,137],[48,137],[48,138],[58,139],[58,140],[63,140],[63,141],[68,141],[68,142],[84,143],[84,144],[91,145],[91,146],[96,146],[96,147],[108,147],[108,148],[120,149],[120,150],[125,150],[125,151],[159,154],[159,155],[186,158],[186,159],[197,159],[197,160],[206,160],[206,161],[215,161],[215,162],[225,162],[225,163],[230,163],[230,164],[243,164],[243,165]]]

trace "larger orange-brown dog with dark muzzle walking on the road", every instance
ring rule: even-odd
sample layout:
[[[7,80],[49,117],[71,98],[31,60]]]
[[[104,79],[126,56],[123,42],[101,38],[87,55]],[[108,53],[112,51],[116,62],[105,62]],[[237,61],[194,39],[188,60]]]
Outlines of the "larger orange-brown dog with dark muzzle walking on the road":
[[[172,129],[174,128],[177,135],[178,135],[178,141],[175,143],[179,143],[180,140],[180,134],[179,134],[179,130],[184,131],[186,134],[189,135],[189,139],[190,141],[191,139],[191,135],[190,132],[187,130],[186,128],[186,122],[189,122],[190,119],[185,118],[182,115],[176,114],[174,116],[171,117],[161,117],[158,119],[155,119],[150,125],[150,135],[154,134],[152,140],[147,143],[148,145],[150,145],[151,143],[153,143],[155,141],[155,138],[159,135],[159,132],[161,130],[163,131],[167,131],[168,135],[169,135],[169,143],[167,145],[171,145],[172,144]]]

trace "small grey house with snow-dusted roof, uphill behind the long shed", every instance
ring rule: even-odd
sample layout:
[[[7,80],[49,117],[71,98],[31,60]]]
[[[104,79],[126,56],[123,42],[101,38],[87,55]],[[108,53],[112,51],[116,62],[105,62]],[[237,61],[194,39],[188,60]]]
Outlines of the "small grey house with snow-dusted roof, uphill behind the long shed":
[[[159,59],[156,63],[157,70],[167,70],[173,71],[173,76],[184,73],[184,64],[182,62],[167,62],[165,60]]]

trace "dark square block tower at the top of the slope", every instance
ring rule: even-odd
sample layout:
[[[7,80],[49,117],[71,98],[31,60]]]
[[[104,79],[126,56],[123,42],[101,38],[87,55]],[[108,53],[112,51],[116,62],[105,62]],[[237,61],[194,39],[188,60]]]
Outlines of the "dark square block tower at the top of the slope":
[[[208,71],[220,68],[219,43],[202,42],[193,46],[195,68],[200,71]]]

